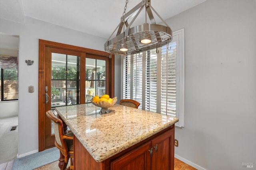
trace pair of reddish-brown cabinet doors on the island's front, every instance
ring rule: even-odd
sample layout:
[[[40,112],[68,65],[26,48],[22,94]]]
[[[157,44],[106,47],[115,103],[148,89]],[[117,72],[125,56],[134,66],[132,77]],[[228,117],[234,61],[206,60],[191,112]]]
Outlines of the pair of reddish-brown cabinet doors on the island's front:
[[[174,128],[111,161],[110,170],[174,170]]]

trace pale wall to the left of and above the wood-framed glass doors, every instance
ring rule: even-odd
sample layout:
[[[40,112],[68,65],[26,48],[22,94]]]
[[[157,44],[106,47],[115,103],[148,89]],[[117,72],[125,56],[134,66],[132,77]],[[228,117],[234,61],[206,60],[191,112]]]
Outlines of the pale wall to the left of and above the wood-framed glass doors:
[[[0,32],[20,35],[18,154],[38,152],[38,39],[104,51],[106,39],[50,23],[25,18],[25,24],[0,19]],[[34,60],[27,66],[25,60]],[[35,92],[29,93],[28,86]]]

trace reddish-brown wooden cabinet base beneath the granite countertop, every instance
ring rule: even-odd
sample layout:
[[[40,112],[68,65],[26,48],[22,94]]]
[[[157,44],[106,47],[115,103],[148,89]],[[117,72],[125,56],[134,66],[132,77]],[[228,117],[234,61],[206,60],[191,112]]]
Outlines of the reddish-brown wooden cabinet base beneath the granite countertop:
[[[76,137],[74,151],[76,170],[174,170],[174,125],[103,162],[96,162]]]

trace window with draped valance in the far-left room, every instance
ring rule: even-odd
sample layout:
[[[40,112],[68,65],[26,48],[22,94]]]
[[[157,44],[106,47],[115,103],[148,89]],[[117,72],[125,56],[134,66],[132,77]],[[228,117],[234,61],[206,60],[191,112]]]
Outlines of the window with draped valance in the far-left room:
[[[0,57],[0,101],[18,100],[17,57]]]

